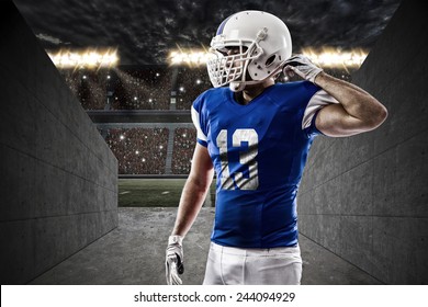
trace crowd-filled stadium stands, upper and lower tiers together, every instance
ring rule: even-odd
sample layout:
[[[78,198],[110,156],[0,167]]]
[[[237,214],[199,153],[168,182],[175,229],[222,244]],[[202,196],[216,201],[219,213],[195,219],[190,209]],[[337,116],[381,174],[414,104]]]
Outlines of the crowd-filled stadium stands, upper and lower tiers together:
[[[343,70],[328,72],[350,79]],[[87,111],[190,111],[193,100],[211,88],[205,67],[121,66],[61,69],[60,73]],[[117,158],[120,174],[189,173],[196,133],[190,123],[182,127],[171,121],[158,123],[164,128],[138,127],[140,123],[135,123],[135,127],[100,129]]]

